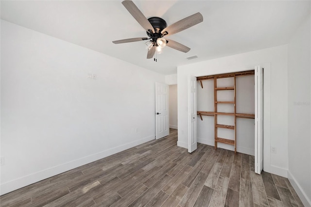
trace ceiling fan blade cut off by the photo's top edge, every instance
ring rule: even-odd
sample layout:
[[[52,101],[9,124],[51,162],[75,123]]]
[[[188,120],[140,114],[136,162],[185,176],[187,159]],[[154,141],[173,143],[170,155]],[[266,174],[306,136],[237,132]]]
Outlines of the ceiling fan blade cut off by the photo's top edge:
[[[123,6],[127,9],[127,11],[138,21],[138,23],[146,30],[146,31],[152,31],[154,33],[154,28],[146,18],[142,14],[142,12],[138,9],[138,7],[134,4],[131,0],[123,0],[122,1]]]

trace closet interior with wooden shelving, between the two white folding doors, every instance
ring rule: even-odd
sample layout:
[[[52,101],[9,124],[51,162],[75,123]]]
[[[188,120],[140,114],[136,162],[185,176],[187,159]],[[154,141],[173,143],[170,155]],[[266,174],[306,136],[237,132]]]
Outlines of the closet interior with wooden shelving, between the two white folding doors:
[[[219,143],[228,144],[234,147],[236,153],[237,141],[254,142],[254,75],[255,71],[249,70],[197,77],[197,115],[200,117],[198,122],[203,121],[205,116],[209,117],[206,124],[198,126],[198,131],[199,134],[201,131],[201,137],[211,136],[211,133],[208,136],[202,134],[204,129],[200,130],[200,126],[207,127],[208,131],[214,132],[215,149],[217,149]],[[200,88],[203,90],[202,92],[200,92]],[[200,95],[202,95],[202,98]],[[252,119],[252,121],[242,121],[240,119]],[[239,133],[237,134],[238,128]],[[248,145],[250,147],[244,146],[245,150],[252,151],[254,145]],[[243,153],[253,154],[245,151]]]

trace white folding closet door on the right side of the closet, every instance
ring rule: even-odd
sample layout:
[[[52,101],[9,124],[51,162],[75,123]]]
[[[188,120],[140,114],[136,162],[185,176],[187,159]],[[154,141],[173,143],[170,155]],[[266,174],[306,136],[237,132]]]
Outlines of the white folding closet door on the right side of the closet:
[[[255,173],[263,168],[263,68],[255,66]]]

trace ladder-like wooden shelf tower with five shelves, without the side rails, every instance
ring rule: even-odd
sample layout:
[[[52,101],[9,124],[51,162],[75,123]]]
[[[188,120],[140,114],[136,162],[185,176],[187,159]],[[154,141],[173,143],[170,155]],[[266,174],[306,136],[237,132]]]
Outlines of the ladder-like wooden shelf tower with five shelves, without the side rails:
[[[221,79],[221,78],[229,78],[229,77],[233,77],[234,78],[234,86],[233,87],[223,87],[223,88],[218,88],[217,87],[217,79]],[[215,136],[215,149],[217,149],[217,143],[225,143],[225,144],[230,144],[234,146],[234,152],[237,152],[237,131],[236,131],[236,125],[237,125],[237,117],[236,117],[236,111],[237,111],[237,107],[236,107],[236,77],[235,74],[232,74],[232,76],[214,76],[214,125],[215,125],[215,132],[214,132],[214,136]],[[234,100],[233,101],[218,101],[217,100],[217,91],[224,91],[224,90],[233,90],[234,91]],[[227,113],[227,112],[221,112],[218,111],[218,104],[233,104],[234,105],[234,113]],[[230,125],[222,125],[222,124],[218,124],[218,115],[229,115],[229,116],[234,116],[234,126],[230,126]],[[225,139],[225,138],[221,138],[218,137],[218,128],[226,128],[226,129],[232,129],[234,130],[234,140],[229,140],[229,139]]]

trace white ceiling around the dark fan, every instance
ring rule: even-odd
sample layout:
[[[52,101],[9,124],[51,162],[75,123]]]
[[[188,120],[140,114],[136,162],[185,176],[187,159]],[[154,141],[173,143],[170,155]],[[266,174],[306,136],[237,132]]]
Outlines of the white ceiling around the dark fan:
[[[121,0],[4,1],[1,19],[168,75],[178,65],[287,44],[310,13],[311,1],[134,0],[147,17],[168,25],[200,12],[203,22],[170,39],[188,46],[166,47],[158,61],[146,59],[146,41],[115,45],[113,40],[147,37]],[[186,57],[197,55],[197,59]]]

